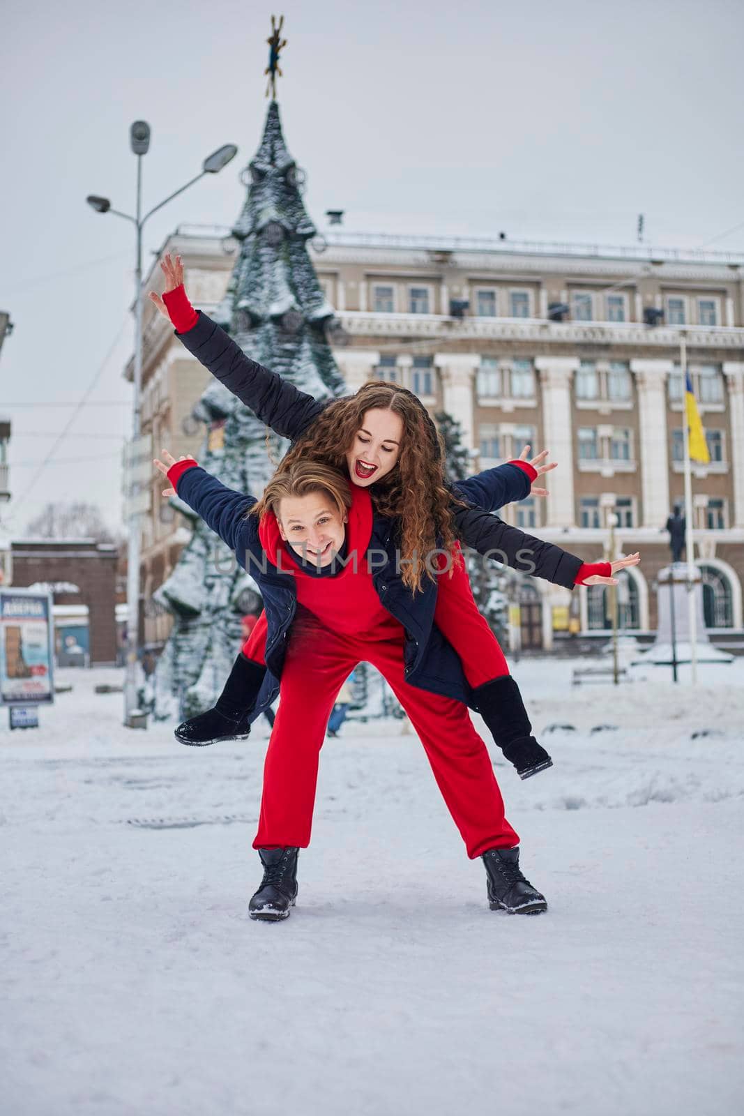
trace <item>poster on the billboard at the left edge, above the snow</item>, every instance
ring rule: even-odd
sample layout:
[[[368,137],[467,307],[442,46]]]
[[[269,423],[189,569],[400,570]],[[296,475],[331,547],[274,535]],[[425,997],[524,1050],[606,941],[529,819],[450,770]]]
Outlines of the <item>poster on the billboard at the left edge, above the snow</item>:
[[[51,594],[0,588],[0,704],[55,700]]]

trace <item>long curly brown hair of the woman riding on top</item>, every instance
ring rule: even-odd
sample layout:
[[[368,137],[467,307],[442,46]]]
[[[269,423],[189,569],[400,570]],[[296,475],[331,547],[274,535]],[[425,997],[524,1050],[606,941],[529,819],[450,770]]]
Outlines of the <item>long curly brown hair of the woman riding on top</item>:
[[[400,576],[416,591],[424,576],[435,578],[426,557],[437,546],[453,550],[456,536],[451,506],[463,501],[446,487],[442,437],[413,392],[397,384],[374,382],[365,384],[356,395],[334,400],[291,446],[279,464],[279,472],[299,460],[310,460],[332,465],[348,475],[346,454],[363,426],[365,413],[373,407],[393,411],[403,422],[398,460],[371,487],[370,496],[377,512],[398,520]],[[456,557],[455,561],[460,559]]]

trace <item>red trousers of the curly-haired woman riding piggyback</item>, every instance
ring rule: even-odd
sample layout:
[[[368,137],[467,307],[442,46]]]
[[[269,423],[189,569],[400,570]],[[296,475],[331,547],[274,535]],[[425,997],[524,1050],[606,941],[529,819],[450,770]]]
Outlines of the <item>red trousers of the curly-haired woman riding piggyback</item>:
[[[439,556],[439,569],[444,569],[444,556]],[[499,646],[499,641],[477,610],[473,599],[470,577],[465,564],[454,566],[452,576],[439,574],[434,623],[445,639],[457,652],[465,677],[475,687],[492,679],[509,674],[509,665]],[[263,613],[249,638],[243,644],[243,654],[255,663],[263,663],[267,643],[267,618]],[[363,655],[361,658],[365,656]]]

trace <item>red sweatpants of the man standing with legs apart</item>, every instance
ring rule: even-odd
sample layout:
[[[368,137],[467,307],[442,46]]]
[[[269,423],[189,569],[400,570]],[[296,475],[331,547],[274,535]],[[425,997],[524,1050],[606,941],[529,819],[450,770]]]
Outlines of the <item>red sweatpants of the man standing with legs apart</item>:
[[[258,627],[258,625],[257,625]],[[519,837],[504,804],[485,744],[467,706],[405,681],[404,634],[398,639],[338,635],[311,614],[290,632],[280,703],[263,768],[263,797],[253,848],[310,843],[320,749],[338,691],[359,662],[387,680],[426,750],[437,786],[467,855],[513,848]]]

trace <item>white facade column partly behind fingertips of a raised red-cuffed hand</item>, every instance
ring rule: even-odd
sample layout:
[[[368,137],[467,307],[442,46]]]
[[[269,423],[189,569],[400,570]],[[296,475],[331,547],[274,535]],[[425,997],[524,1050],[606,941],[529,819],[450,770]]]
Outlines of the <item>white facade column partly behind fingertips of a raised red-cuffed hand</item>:
[[[571,377],[579,367],[578,356],[539,356],[534,366],[540,373],[544,448],[558,462],[548,487],[548,526],[573,527],[573,429],[571,423]],[[555,478],[552,480],[552,478]]]

